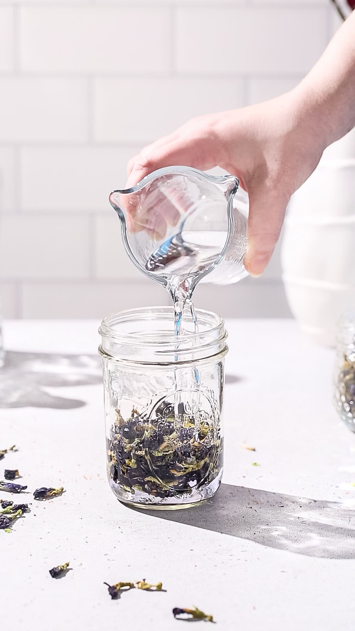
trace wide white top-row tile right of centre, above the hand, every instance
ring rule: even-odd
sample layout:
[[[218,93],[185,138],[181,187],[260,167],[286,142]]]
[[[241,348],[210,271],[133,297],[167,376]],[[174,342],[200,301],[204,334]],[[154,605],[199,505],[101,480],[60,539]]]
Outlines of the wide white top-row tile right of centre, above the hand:
[[[327,11],[300,6],[180,8],[181,73],[306,73],[327,44]]]

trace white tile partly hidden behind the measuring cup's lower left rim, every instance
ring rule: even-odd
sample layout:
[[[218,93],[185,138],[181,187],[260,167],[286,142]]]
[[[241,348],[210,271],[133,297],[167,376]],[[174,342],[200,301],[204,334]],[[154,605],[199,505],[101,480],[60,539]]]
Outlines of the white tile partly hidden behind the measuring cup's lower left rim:
[[[110,216],[96,217],[94,266],[95,278],[137,282],[144,278],[125,253],[120,220],[113,211]]]

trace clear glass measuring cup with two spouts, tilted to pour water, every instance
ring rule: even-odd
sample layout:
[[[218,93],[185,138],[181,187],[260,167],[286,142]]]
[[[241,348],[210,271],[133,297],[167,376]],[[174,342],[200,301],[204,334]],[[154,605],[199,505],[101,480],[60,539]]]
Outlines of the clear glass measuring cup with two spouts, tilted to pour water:
[[[209,274],[218,284],[247,276],[248,199],[238,178],[166,167],[109,200],[131,261],[166,288],[183,282],[192,293]]]

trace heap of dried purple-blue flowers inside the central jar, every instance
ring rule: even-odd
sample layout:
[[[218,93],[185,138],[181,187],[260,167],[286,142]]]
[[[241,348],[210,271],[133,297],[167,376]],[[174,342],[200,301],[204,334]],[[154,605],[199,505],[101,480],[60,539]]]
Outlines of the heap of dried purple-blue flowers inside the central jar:
[[[207,415],[196,420],[180,403],[175,416],[174,406],[163,401],[149,423],[135,409],[127,420],[119,409],[116,417],[107,440],[108,476],[121,490],[176,497],[218,475],[222,440]]]

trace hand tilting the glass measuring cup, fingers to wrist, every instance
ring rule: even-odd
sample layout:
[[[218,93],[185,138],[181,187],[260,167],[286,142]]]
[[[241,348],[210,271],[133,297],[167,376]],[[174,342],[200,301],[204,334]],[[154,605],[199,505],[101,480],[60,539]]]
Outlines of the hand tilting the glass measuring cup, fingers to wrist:
[[[267,266],[291,194],[317,166],[325,148],[322,122],[295,90],[271,101],[192,119],[144,148],[127,167],[127,188],[157,168],[219,166],[240,179],[250,213],[245,267],[259,276]]]

